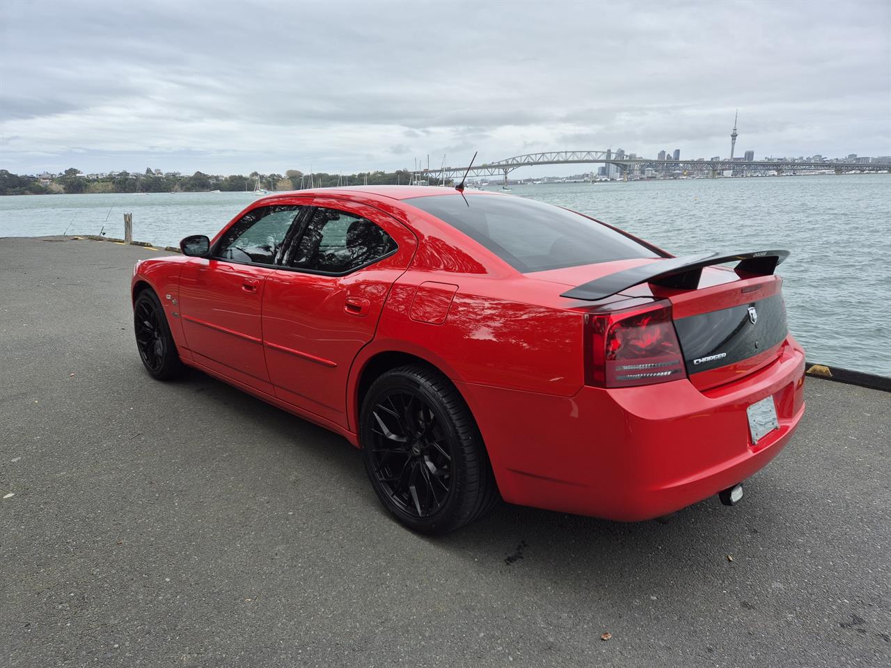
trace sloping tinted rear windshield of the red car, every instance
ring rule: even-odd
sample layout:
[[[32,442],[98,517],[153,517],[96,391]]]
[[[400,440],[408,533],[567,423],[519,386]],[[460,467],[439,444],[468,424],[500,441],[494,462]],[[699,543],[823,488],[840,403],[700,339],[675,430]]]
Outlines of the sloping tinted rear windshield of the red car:
[[[535,200],[497,195],[431,195],[407,200],[491,250],[519,272],[659,257],[590,218]]]

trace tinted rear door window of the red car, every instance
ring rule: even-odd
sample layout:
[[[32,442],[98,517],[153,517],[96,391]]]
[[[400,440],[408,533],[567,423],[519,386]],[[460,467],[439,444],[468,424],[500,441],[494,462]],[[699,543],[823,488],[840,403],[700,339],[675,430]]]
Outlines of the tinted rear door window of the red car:
[[[343,273],[395,249],[392,237],[370,220],[333,208],[317,208],[288,264],[318,272]]]

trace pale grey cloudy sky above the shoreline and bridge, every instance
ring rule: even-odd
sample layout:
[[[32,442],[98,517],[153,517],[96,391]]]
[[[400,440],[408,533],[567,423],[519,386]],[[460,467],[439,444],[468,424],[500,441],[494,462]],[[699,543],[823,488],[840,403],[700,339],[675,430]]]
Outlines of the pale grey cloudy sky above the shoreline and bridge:
[[[891,3],[0,3],[17,173],[708,158],[736,108],[738,155],[891,155]]]

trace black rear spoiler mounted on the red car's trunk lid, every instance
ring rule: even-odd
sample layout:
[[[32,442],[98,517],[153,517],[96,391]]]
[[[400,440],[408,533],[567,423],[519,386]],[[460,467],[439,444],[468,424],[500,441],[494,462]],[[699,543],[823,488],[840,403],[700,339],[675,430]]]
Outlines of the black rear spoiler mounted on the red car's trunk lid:
[[[753,253],[699,253],[684,257],[666,257],[634,266],[621,272],[609,273],[599,279],[583,283],[560,297],[594,301],[610,297],[624,289],[641,283],[653,283],[666,288],[696,289],[702,268],[709,265],[723,265],[737,262],[734,271],[755,276],[770,276],[783,260],[789,257],[788,250],[758,250]]]

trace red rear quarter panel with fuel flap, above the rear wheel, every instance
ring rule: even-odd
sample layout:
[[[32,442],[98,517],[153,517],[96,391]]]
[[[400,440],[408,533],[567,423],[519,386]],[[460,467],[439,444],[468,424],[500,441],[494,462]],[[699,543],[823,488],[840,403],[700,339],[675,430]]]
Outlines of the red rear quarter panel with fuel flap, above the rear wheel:
[[[584,383],[584,314],[568,310],[552,283],[517,272],[410,201],[400,205],[418,249],[408,271],[390,289],[374,340],[354,363],[347,387],[347,396],[354,397],[351,424],[356,424],[356,387],[364,364],[388,351],[421,357],[455,382],[575,394]],[[421,287],[431,281],[449,290]],[[443,317],[440,302],[452,289]],[[419,303],[425,297],[436,317],[419,317],[426,311]],[[486,407],[470,409],[476,413]]]

